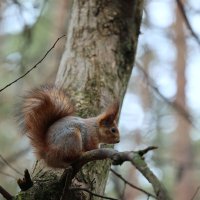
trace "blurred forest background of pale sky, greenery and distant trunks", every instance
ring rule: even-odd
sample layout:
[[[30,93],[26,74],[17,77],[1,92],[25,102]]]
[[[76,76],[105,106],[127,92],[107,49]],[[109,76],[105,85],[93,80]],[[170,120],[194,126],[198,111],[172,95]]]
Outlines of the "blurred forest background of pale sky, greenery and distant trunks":
[[[0,0],[0,88],[34,66],[67,33],[71,4],[72,0]],[[146,160],[176,200],[200,199],[199,38],[199,0],[145,1],[135,67],[119,123],[118,150],[159,147]],[[19,190],[20,173],[25,168],[31,172],[35,160],[28,141],[19,134],[17,103],[28,89],[54,82],[64,40],[29,75],[0,93],[0,185],[11,194]],[[114,169],[152,191],[129,164]],[[147,199],[110,175],[107,195]]]

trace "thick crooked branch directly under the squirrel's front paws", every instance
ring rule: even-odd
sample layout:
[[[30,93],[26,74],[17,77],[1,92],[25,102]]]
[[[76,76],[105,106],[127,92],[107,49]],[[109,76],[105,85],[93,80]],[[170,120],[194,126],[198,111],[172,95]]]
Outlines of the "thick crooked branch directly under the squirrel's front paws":
[[[153,172],[148,168],[146,162],[143,159],[144,153],[147,153],[149,150],[155,149],[155,147],[148,147],[142,151],[126,151],[118,152],[114,149],[95,149],[84,153],[77,161],[72,163],[72,168],[74,170],[73,176],[80,170],[80,168],[86,163],[94,160],[103,160],[111,159],[114,165],[121,165],[125,161],[130,161],[142,175],[152,184],[154,192],[158,200],[170,200],[166,189],[153,174]],[[142,156],[141,156],[142,152]]]

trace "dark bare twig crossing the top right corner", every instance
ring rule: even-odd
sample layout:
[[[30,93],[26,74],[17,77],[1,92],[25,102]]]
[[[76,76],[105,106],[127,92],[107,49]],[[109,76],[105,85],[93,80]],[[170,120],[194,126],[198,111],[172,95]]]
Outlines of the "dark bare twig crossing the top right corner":
[[[176,2],[177,2],[177,5],[178,5],[178,7],[179,7],[179,10],[180,10],[180,12],[181,12],[181,14],[182,14],[184,20],[185,20],[186,26],[187,26],[188,29],[190,30],[192,36],[195,38],[195,40],[197,41],[197,43],[200,45],[200,39],[199,39],[199,37],[197,36],[197,34],[194,32],[194,30],[193,30],[193,28],[192,28],[192,26],[191,26],[191,24],[190,24],[190,22],[189,22],[189,20],[188,20],[188,17],[187,17],[187,15],[186,15],[186,12],[185,12],[185,9],[184,9],[184,6],[183,6],[181,0],[176,0]]]

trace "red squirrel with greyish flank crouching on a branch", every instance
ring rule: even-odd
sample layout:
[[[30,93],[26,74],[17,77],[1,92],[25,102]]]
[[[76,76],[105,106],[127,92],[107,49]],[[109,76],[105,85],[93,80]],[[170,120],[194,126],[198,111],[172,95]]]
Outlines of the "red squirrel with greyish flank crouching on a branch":
[[[69,96],[55,86],[42,86],[23,99],[21,123],[38,159],[49,167],[65,168],[99,144],[119,142],[116,118],[119,103],[92,118],[74,115]]]

